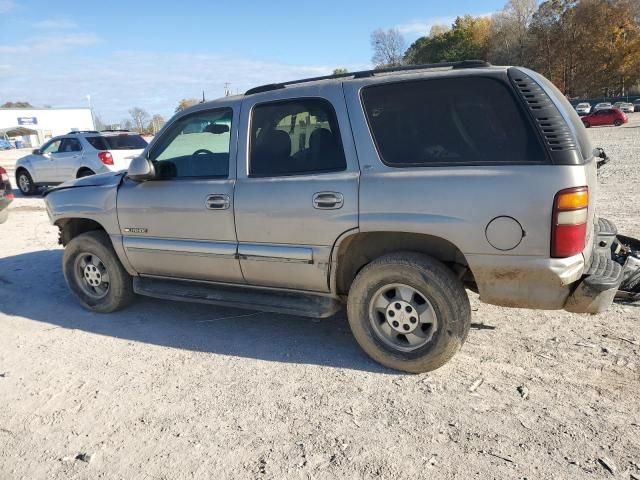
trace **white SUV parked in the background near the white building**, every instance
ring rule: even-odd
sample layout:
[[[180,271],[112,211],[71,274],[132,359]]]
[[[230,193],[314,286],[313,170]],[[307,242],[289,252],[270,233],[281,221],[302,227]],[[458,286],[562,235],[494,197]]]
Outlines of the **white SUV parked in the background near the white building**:
[[[54,137],[16,163],[16,183],[23,195],[96,173],[126,170],[147,142],[126,130],[69,132]]]

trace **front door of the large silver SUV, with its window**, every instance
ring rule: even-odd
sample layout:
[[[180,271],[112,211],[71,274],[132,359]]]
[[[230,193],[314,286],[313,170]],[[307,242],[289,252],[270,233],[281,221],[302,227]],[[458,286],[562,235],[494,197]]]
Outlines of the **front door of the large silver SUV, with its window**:
[[[125,179],[118,222],[142,275],[241,283],[233,218],[238,105],[176,119],[151,146],[156,179]]]

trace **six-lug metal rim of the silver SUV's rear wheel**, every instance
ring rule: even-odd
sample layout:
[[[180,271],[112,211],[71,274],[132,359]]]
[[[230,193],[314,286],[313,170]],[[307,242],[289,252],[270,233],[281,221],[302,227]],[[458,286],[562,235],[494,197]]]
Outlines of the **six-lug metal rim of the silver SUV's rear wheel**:
[[[380,341],[402,352],[425,346],[438,329],[429,300],[402,283],[385,285],[371,297],[369,320]]]

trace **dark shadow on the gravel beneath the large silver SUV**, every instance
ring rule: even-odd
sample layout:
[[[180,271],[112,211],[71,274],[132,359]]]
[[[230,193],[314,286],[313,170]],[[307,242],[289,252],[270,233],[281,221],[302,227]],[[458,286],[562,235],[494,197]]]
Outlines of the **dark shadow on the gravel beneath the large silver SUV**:
[[[366,356],[351,335],[344,313],[313,321],[144,297],[120,312],[88,312],[69,293],[61,259],[62,249],[0,258],[0,313],[197,352],[397,373]]]

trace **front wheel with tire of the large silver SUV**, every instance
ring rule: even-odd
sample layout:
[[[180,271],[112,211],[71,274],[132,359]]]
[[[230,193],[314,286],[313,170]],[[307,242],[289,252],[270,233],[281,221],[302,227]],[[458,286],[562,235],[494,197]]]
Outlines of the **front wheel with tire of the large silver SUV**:
[[[64,249],[62,270],[71,293],[87,310],[114,312],[134,299],[133,281],[105,232],[83,233]]]

